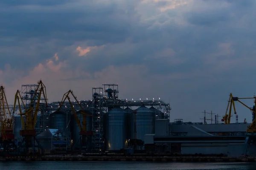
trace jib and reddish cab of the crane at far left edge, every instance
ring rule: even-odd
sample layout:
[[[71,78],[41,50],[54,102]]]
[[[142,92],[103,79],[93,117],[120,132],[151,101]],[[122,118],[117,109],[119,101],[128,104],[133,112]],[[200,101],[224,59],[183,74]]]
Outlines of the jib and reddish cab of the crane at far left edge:
[[[13,117],[9,109],[4,87],[0,86],[0,123],[1,123],[1,140],[14,139],[13,134]]]

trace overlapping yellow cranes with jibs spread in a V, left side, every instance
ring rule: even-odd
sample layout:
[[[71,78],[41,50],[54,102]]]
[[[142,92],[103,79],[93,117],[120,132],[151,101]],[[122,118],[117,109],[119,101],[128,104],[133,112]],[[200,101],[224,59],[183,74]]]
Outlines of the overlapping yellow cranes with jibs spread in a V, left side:
[[[26,148],[25,153],[28,153],[29,148],[33,148],[33,153],[35,152],[35,141],[36,141],[36,139],[35,139],[35,136],[36,136],[35,124],[36,124],[36,120],[37,120],[37,116],[38,116],[38,111],[39,111],[42,94],[44,96],[45,107],[47,108],[48,105],[47,105],[46,87],[41,80],[38,81],[38,86],[35,89],[34,95],[30,101],[28,108],[26,105],[24,105],[24,102],[20,95],[20,91],[17,91],[15,94],[15,102],[14,102],[13,110],[15,110],[16,102],[18,102],[18,107],[19,107],[19,111],[20,111],[20,119],[21,119],[21,124],[22,124],[22,130],[20,130],[20,135],[24,137],[23,142],[25,142],[25,148]],[[20,102],[20,100],[21,100],[21,102]],[[24,106],[24,110],[25,110],[24,112],[21,110],[21,105],[20,105],[21,103]],[[34,139],[34,140],[32,141],[32,139]],[[38,141],[37,141],[37,143],[39,146]]]

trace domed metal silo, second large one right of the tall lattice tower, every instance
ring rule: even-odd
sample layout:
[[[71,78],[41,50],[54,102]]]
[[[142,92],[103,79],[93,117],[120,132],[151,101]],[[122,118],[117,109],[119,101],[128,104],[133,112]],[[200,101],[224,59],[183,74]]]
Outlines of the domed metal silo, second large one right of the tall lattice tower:
[[[144,141],[145,134],[154,134],[155,131],[155,113],[145,106],[141,106],[135,113],[130,113],[130,139],[141,139]],[[134,133],[134,125],[136,125],[136,136]],[[135,138],[136,137],[136,138]]]

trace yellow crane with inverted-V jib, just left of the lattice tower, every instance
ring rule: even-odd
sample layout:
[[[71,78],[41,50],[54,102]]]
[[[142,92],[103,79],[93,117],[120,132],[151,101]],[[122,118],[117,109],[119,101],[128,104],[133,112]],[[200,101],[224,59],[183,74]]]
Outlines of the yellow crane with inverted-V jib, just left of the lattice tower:
[[[77,116],[77,113],[74,109],[74,106],[70,100],[70,96],[69,95],[72,95],[73,98],[75,99],[77,105],[79,105],[80,107],[80,113],[82,114],[82,117],[81,119],[79,119],[79,117]],[[84,109],[82,108],[81,106],[81,103],[76,99],[76,96],[73,94],[73,91],[72,90],[69,90],[67,93],[65,93],[62,97],[62,100],[61,100],[61,104],[59,105],[59,108],[57,111],[60,111],[61,110],[61,107],[62,105],[64,104],[65,100],[68,99],[69,103],[70,103],[70,107],[71,107],[71,110],[75,116],[75,119],[76,119],[76,122],[77,122],[77,125],[79,126],[79,129],[80,129],[80,133],[79,135],[81,136],[79,141],[80,141],[80,147],[82,147],[83,143],[84,143],[84,140],[86,139],[86,136],[92,136],[93,135],[93,132],[92,131],[87,131],[87,122],[86,122],[86,119],[87,119],[87,116],[92,116],[90,114],[88,114],[86,111],[84,111]],[[75,144],[74,144],[75,145]]]

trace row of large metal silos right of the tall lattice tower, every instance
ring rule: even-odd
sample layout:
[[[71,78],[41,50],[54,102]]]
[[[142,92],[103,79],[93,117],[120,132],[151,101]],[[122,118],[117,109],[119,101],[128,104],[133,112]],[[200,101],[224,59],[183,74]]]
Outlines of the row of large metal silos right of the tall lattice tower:
[[[154,107],[141,106],[135,111],[130,108],[113,108],[104,116],[106,150],[127,147],[129,139],[141,139],[145,134],[154,134],[155,119],[163,119],[163,113]]]

